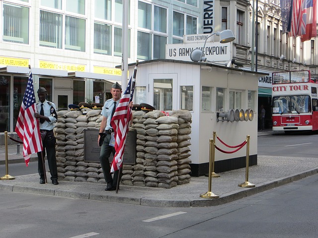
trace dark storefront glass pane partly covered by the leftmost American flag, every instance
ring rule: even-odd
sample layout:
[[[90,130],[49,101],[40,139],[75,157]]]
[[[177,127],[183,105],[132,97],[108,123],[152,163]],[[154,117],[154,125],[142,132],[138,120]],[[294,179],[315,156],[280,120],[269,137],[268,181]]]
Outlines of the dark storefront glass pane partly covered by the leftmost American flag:
[[[22,99],[28,83],[28,77],[13,77],[13,130],[15,130],[16,120],[18,119]],[[7,94],[9,95],[9,93]],[[9,104],[7,104],[9,105]]]

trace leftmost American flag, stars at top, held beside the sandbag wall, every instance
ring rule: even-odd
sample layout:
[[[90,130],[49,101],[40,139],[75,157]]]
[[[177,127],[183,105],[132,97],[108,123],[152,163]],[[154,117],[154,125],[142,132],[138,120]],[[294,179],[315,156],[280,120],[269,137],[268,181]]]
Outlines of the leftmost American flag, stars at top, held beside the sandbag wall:
[[[30,72],[28,84],[25,89],[19,117],[15,127],[17,135],[23,141],[23,157],[26,166],[29,165],[31,154],[40,152],[43,149],[39,120],[35,119],[35,112],[36,105],[33,78],[32,72]]]

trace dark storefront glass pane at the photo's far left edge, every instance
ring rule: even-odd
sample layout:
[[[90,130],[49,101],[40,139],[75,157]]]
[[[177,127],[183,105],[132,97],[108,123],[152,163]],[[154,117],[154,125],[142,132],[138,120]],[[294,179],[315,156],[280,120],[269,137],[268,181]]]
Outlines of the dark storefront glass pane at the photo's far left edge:
[[[25,88],[24,88],[25,91]],[[24,94],[23,91],[23,94]],[[0,76],[0,131],[9,131],[10,129],[10,76]],[[22,95],[23,97],[23,95]],[[21,107],[18,104],[17,88],[13,88],[13,111],[19,112]]]

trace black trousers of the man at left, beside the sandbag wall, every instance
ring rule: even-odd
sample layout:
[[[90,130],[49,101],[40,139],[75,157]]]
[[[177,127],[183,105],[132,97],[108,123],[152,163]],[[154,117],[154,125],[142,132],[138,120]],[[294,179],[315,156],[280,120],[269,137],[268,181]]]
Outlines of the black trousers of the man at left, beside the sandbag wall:
[[[51,173],[51,180],[58,179],[58,170],[56,165],[56,152],[55,152],[55,142],[53,130],[48,131],[45,135],[45,138],[42,140],[43,151],[38,152],[38,172],[40,179],[44,179],[44,169],[41,153],[43,153],[43,158],[45,154],[47,155],[47,160],[49,164],[49,170]]]

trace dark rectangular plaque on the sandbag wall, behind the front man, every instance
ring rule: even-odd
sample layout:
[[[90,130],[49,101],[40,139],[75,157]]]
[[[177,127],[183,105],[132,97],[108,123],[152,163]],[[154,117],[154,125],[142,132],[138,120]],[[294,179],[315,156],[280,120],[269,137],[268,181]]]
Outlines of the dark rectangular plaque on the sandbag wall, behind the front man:
[[[99,162],[100,146],[97,144],[99,129],[87,128],[84,130],[84,161]],[[123,156],[124,165],[136,164],[136,140],[137,132],[135,130],[128,131],[126,137],[125,152]],[[109,163],[113,161],[113,154],[109,156]]]

